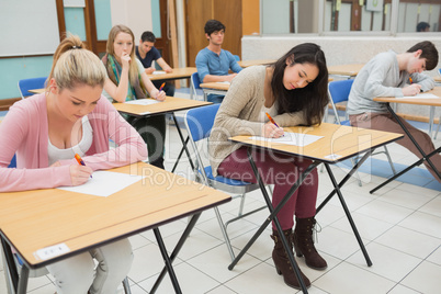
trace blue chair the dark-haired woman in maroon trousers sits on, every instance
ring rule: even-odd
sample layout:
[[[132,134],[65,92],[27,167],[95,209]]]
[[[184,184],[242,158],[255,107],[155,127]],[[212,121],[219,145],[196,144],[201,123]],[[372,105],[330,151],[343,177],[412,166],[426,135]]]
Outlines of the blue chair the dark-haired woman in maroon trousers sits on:
[[[194,174],[196,176],[196,181],[202,182],[206,185],[210,185],[214,189],[218,189],[218,190],[235,194],[235,196],[233,196],[234,199],[235,197],[241,199],[238,215],[234,218],[230,218],[226,223],[224,223],[224,220],[222,219],[219,210],[217,207],[214,207],[217,220],[220,226],[222,234],[224,235],[225,244],[228,248],[231,260],[234,260],[235,253],[233,251],[233,247],[231,247],[231,244],[230,244],[230,240],[228,237],[228,233],[227,233],[228,224],[236,222],[242,217],[246,217],[250,214],[253,214],[258,211],[267,208],[267,205],[244,214],[242,212],[244,212],[246,193],[258,190],[259,184],[228,179],[228,178],[225,178],[222,176],[214,177],[212,167],[205,166],[203,163],[204,161],[202,160],[202,156],[201,156],[202,150],[200,151],[200,149],[203,149],[203,148],[199,148],[197,143],[207,140],[207,138],[210,137],[210,134],[211,134],[211,131],[212,131],[212,127],[214,124],[214,118],[216,116],[216,113],[217,113],[219,106],[220,106],[220,104],[212,104],[212,105],[207,105],[207,106],[189,110],[185,113],[184,121],[185,121],[186,129],[189,132],[190,143],[191,143],[194,154],[195,154]]]

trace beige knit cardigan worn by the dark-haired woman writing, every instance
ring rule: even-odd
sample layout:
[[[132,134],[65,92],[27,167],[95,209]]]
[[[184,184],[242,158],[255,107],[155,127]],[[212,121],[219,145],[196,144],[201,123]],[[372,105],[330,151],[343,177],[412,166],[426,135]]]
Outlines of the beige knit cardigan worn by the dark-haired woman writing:
[[[238,135],[261,136],[263,122],[260,113],[264,103],[264,66],[252,66],[241,70],[234,78],[217,112],[210,136],[208,154],[213,174],[217,176],[220,162],[240,144],[228,142]],[[280,127],[305,124],[303,112],[284,113],[273,117]]]

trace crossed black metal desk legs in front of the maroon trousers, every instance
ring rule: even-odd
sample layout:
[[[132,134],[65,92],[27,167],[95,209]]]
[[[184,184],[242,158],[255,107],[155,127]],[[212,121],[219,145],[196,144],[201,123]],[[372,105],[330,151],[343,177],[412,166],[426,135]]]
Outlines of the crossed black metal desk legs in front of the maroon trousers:
[[[291,265],[294,269],[295,276],[297,278],[297,281],[301,284],[302,292],[303,293],[308,293],[305,286],[305,283],[301,276],[299,269],[297,267],[297,263],[294,260],[294,256],[291,252],[291,248],[287,244],[287,240],[283,234],[283,229],[279,223],[279,219],[276,217],[278,213],[280,210],[282,210],[283,205],[290,200],[290,197],[293,195],[293,193],[298,189],[298,186],[303,183],[303,181],[306,179],[306,177],[320,163],[320,162],[313,162],[309,165],[309,167],[298,177],[296,183],[290,189],[290,191],[286,193],[286,195],[283,197],[283,200],[279,203],[279,205],[273,208],[270,196],[268,195],[267,189],[264,188],[264,184],[262,182],[262,179],[260,177],[260,173],[256,167],[256,162],[252,159],[251,156],[251,150],[248,148],[247,150],[248,154],[248,160],[250,161],[252,171],[255,172],[256,179],[259,183],[260,190],[263,194],[263,197],[267,202],[267,206],[270,211],[270,216],[267,217],[267,219],[263,222],[263,224],[260,226],[260,228],[256,231],[256,234],[251,237],[251,239],[247,242],[247,245],[244,247],[244,249],[237,255],[236,259],[231,262],[231,264],[228,265],[228,270],[233,270],[234,267],[239,262],[239,260],[244,257],[244,255],[248,251],[248,249],[252,246],[252,244],[257,240],[257,238],[262,234],[262,231],[265,229],[265,227],[271,223],[271,220],[274,220],[275,226],[278,228],[279,235],[281,236],[281,240],[283,244],[283,248],[285,249],[285,252],[287,253],[287,257],[290,259]]]

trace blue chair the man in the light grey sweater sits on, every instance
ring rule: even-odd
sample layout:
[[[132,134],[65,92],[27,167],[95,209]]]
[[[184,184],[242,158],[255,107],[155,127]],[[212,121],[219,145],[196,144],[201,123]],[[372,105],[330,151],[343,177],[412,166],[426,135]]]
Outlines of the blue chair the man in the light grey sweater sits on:
[[[330,103],[332,105],[332,110],[333,110],[333,116],[335,116],[335,121],[337,122],[337,124],[339,125],[351,125],[351,122],[349,121],[349,116],[348,113],[344,112],[344,120],[340,120],[339,113],[337,111],[337,103],[341,103],[341,102],[348,102],[349,99],[349,93],[351,92],[351,88],[352,88],[352,83],[353,83],[353,79],[349,79],[349,80],[338,80],[338,81],[331,81],[328,84],[328,90],[329,90],[329,98],[330,98]],[[386,146],[384,147],[384,151],[376,151],[372,155],[377,155],[377,154],[385,154],[387,157],[387,161],[391,165],[391,169],[394,172],[394,174],[396,173],[395,167],[394,167],[394,162],[392,162],[392,158],[391,155],[387,150]],[[352,165],[354,165],[354,159],[352,160]],[[357,160],[357,159],[355,159]],[[357,173],[355,176],[358,178],[358,182],[359,185],[361,186],[361,180],[359,174]]]

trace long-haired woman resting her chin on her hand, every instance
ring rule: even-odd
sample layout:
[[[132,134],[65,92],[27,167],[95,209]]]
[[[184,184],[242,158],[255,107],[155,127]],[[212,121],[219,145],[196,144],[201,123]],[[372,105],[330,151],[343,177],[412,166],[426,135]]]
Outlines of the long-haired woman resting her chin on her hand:
[[[102,58],[108,78],[103,95],[111,101],[125,102],[145,99],[147,93],[158,101],[166,99],[166,92],[155,88],[143,64],[135,56],[134,34],[131,29],[118,24],[109,33],[106,54]],[[149,162],[163,169],[163,145],[166,139],[166,116],[126,117],[147,144]]]

